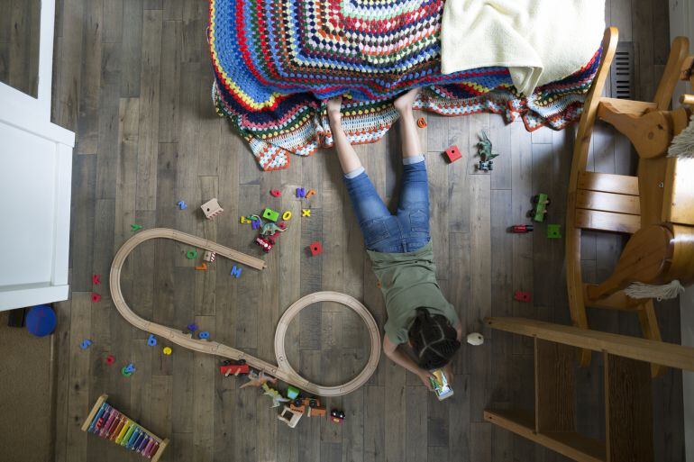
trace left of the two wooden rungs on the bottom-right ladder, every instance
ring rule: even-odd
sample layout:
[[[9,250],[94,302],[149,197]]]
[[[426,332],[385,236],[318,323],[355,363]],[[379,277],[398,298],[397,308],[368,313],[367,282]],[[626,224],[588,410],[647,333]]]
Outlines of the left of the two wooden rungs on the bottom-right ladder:
[[[574,431],[575,349],[535,339],[535,430]]]

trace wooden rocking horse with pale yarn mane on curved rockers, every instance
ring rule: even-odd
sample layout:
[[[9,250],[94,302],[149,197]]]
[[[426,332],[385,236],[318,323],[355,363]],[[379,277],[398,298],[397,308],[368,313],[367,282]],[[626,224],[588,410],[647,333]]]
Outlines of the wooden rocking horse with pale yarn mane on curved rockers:
[[[586,306],[637,313],[650,340],[661,340],[653,299],[633,299],[623,290],[634,282],[662,285],[679,279],[694,282],[694,159],[668,158],[672,138],[687,127],[689,107],[671,111],[672,93],[680,78],[691,77],[694,57],[689,40],[672,42],[670,58],[653,102],[602,96],[615,55],[618,33],[605,32],[602,61],[580,119],[566,219],[566,270],[573,325],[589,329]],[[685,96],[685,103],[694,97]],[[637,177],[586,170],[593,126],[597,119],[613,125],[632,142],[639,157]],[[583,230],[630,234],[616,268],[598,285],[583,282],[580,236]],[[581,349],[580,364],[590,361]],[[663,368],[653,365],[653,376]]]

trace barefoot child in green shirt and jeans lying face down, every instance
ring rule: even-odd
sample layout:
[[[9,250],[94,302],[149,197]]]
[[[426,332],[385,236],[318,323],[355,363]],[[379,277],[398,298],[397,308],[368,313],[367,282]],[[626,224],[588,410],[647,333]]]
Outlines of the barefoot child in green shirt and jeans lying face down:
[[[383,204],[342,130],[342,98],[328,101],[327,109],[344,183],[386,301],[383,351],[419,376],[431,390],[429,378],[434,377],[434,369],[444,368],[451,382],[450,362],[461,347],[462,325],[436,282],[425,157],[412,112],[417,93],[417,89],[410,90],[395,102],[400,113],[403,156],[395,215]],[[411,348],[415,360],[407,354],[405,345]]]

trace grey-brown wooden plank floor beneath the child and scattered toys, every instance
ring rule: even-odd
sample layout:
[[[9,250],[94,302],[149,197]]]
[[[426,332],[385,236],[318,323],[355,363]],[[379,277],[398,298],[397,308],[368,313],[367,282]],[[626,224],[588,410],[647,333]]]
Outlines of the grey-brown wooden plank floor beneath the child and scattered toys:
[[[171,439],[161,460],[206,461],[529,461],[562,457],[483,421],[482,411],[522,401],[532,407],[531,345],[487,331],[488,315],[527,316],[569,322],[562,240],[506,229],[525,222],[530,196],[551,195],[549,222],[562,223],[571,164],[573,130],[525,131],[499,116],[446,119],[428,116],[423,130],[431,180],[432,229],[438,276],[458,308],[465,331],[482,331],[483,347],[463,346],[454,364],[455,395],[438,403],[415,376],[386,358],[367,386],[330,400],[342,407],[342,426],[304,419],[296,430],[279,424],[269,399],[239,390],[241,379],[224,378],[218,360],[174,346],[173,355],[147,346],[147,335],[114,310],[107,275],[115,249],[131,236],[131,223],[171,227],[259,255],[239,215],[264,206],[294,217],[267,256],[261,274],[244,269],[229,276],[218,260],[196,271],[185,248],[169,242],[141,246],[128,260],[123,290],[142,317],[183,329],[196,322],[211,338],[273,360],[279,315],[317,290],[336,290],[366,303],[379,324],[382,297],[365,258],[361,235],[347,202],[333,152],[294,157],[288,170],[262,173],[249,149],[210,102],[212,72],[205,43],[206,5],[194,0],[59,0],[54,72],[54,120],[78,132],[73,170],[71,298],[59,303],[56,460],[123,460],[116,448],[79,431],[99,394],[142,425]],[[607,0],[607,22],[623,41],[637,45],[638,96],[650,97],[669,50],[667,4],[660,0]],[[495,150],[490,175],[473,168],[473,145],[489,132]],[[457,144],[464,159],[447,165],[441,151]],[[396,199],[399,178],[397,130],[360,155],[379,192]],[[601,172],[634,169],[628,143],[602,128],[591,166]],[[297,186],[314,188],[310,218],[299,218]],[[279,188],[281,198],[270,197]],[[218,197],[224,215],[205,221],[198,205]],[[186,211],[176,204],[185,200]],[[324,254],[305,247],[322,240]],[[607,276],[622,238],[590,236],[584,267],[589,278]],[[92,275],[102,284],[92,285]],[[532,291],[533,304],[512,300]],[[92,290],[103,295],[90,301]],[[635,317],[590,312],[601,329],[638,333]],[[665,340],[679,341],[676,303],[658,308]],[[334,305],[302,314],[288,336],[292,362],[302,374],[326,384],[353,375],[368,356],[365,330]],[[94,344],[79,349],[83,339]],[[107,354],[116,366],[105,365]],[[120,367],[132,362],[129,378]],[[580,429],[604,435],[600,359],[578,372]],[[658,460],[683,458],[680,374],[654,382],[654,439]],[[135,455],[130,456],[137,460]]]

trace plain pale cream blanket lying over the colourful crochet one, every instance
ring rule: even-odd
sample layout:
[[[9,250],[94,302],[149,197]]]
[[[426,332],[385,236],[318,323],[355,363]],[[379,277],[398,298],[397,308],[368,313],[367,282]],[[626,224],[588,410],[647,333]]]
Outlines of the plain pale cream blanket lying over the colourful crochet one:
[[[588,63],[604,30],[605,0],[446,0],[441,70],[509,68],[530,95]]]

